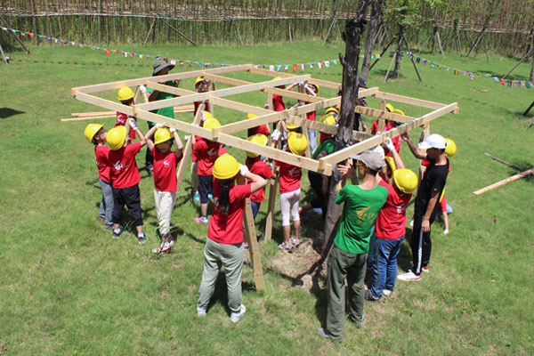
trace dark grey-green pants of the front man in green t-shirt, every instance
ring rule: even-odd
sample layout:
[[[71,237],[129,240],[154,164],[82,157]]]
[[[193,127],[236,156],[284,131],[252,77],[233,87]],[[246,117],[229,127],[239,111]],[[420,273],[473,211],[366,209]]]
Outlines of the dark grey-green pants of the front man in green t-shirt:
[[[367,254],[350,254],[336,246],[328,257],[327,330],[340,341],[344,334],[345,279],[349,285],[349,319],[357,324],[363,320],[366,260]]]

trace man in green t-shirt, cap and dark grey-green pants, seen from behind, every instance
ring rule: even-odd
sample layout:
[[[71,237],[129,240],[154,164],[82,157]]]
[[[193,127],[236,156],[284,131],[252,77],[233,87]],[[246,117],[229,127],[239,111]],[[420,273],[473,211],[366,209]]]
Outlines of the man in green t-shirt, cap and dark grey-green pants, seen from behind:
[[[317,329],[320,336],[338,342],[342,342],[344,336],[345,279],[349,286],[349,320],[359,328],[363,322],[369,235],[387,198],[387,190],[376,184],[376,173],[384,166],[380,155],[368,150],[351,158],[358,160],[356,170],[362,182],[344,185],[347,177],[355,181],[355,170],[353,166],[338,166],[343,176],[336,186],[336,204],[344,203],[344,209],[334,247],[328,256],[327,325]]]

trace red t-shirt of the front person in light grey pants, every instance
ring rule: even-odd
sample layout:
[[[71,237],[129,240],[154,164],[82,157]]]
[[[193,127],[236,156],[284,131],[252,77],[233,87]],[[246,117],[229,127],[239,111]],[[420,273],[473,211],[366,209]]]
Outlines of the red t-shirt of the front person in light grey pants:
[[[234,185],[229,192],[230,209],[223,214],[219,206],[221,185],[214,179],[214,212],[209,219],[207,237],[225,245],[243,242],[243,209],[245,199],[250,196],[251,185]]]

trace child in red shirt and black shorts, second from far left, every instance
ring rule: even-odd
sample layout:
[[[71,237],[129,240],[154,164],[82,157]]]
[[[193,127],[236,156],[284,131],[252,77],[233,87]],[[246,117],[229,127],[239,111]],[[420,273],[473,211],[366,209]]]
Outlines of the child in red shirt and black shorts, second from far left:
[[[139,136],[140,142],[125,145],[126,127],[117,126],[109,130],[106,142],[109,146],[108,162],[111,166],[111,182],[113,183],[113,238],[118,239],[124,227],[120,224],[124,206],[134,218],[137,239],[140,245],[147,240],[142,231],[141,193],[139,182],[141,176],[135,162],[135,155],[147,142],[134,118],[130,119],[130,127]]]

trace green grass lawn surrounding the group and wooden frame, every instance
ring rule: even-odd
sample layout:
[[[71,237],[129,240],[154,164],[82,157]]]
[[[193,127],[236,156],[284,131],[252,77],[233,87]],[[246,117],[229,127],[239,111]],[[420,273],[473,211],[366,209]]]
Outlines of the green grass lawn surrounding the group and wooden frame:
[[[320,42],[234,46],[117,46],[131,52],[161,54],[190,61],[228,63],[300,63],[336,58],[343,44]],[[525,169],[534,166],[529,117],[522,112],[532,91],[508,89],[491,79],[470,80],[443,70],[419,66],[422,83],[411,64],[402,62],[401,78],[382,84],[389,60],[373,69],[368,86],[429,101],[457,101],[459,115],[433,121],[432,132],[457,142],[451,160],[447,199],[454,208],[450,233],[433,224],[431,274],[418,283],[399,282],[385,302],[366,303],[364,328],[347,325],[342,345],[315,334],[325,319],[326,293],[292,287],[276,266],[281,240],[277,216],[274,240],[262,244],[267,289],[255,292],[249,267],[244,273],[247,314],[233,325],[226,309],[223,279],[206,319],[198,320],[195,303],[203,267],[206,227],[193,217],[186,174],[174,207],[174,252],[150,254],[155,247],[156,218],[153,182],[142,170],[142,209],[148,246],[134,235],[112,240],[95,221],[101,190],[93,146],[85,141],[87,122],[61,123],[71,112],[101,109],[70,96],[70,88],[109,81],[148,77],[151,60],[78,47],[32,48],[26,57],[9,53],[9,66],[0,67],[0,353],[5,354],[532,354],[534,305],[532,293],[531,177],[481,196],[472,192],[515,174],[512,168],[486,158],[484,152]],[[515,60],[492,57],[446,60],[423,53],[441,64],[502,76]],[[179,67],[178,70],[188,68]],[[194,66],[190,69],[196,69]],[[300,73],[300,72],[299,72]],[[306,70],[314,77],[341,81],[341,67]],[[514,72],[528,78],[529,66]],[[245,80],[261,77],[235,74]],[[182,87],[191,88],[192,80]],[[224,87],[224,85],[218,85]],[[116,93],[104,93],[114,99]],[[324,96],[334,91],[321,88]],[[262,106],[265,95],[247,93],[235,99]],[[289,101],[291,102],[291,101]],[[378,101],[369,100],[373,107]],[[395,104],[408,115],[428,110]],[[14,110],[14,111],[13,111]],[[244,115],[216,109],[223,123]],[[188,114],[188,120],[192,116]],[[114,119],[97,120],[111,127]],[[367,119],[368,125],[372,120]],[[142,129],[146,126],[142,123]],[[530,129],[531,130],[531,129]],[[240,133],[243,136],[245,133]],[[418,131],[414,133],[414,138]],[[240,161],[243,152],[231,149]],[[143,166],[143,154],[138,166]],[[407,166],[417,161],[405,144]],[[303,177],[305,198],[311,191]],[[263,221],[265,204],[260,213]],[[303,238],[316,237],[320,223],[306,223]],[[262,230],[262,229],[260,229]],[[295,263],[297,263],[295,261]],[[408,267],[409,247],[401,250],[401,269]],[[320,282],[323,280],[319,277]],[[5,349],[5,350],[4,350]]]

